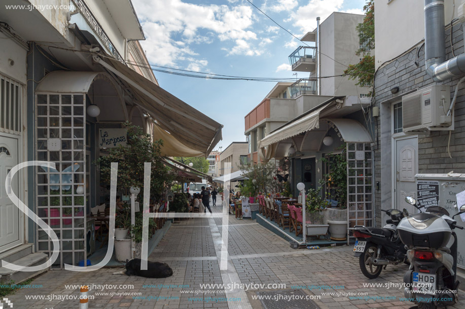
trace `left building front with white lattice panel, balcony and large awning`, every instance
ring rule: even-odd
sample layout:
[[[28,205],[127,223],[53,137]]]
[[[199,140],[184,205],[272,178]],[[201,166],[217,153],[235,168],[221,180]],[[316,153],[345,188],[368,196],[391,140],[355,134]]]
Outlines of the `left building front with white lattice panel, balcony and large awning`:
[[[77,266],[95,250],[87,214],[109,205],[110,192],[94,162],[125,144],[126,121],[152,135],[167,131],[166,142],[205,156],[221,139],[221,125],[158,86],[129,0],[2,5],[0,20],[0,178],[12,181],[7,192],[0,188],[0,257],[14,262],[28,256],[28,266],[37,265],[54,249],[47,229],[7,196],[15,193],[58,236],[53,267]],[[184,129],[187,122],[195,128]],[[205,141],[193,142],[193,131]],[[34,163],[39,166],[7,179],[26,161],[50,164]],[[26,278],[3,275],[2,281]]]

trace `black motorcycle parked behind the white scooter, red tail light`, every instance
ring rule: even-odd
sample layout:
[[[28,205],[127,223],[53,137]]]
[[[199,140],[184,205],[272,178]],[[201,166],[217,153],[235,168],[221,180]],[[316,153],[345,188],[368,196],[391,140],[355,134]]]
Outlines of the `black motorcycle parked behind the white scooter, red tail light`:
[[[388,264],[406,262],[406,252],[399,235],[397,226],[401,220],[408,216],[407,210],[382,210],[391,218],[386,220],[382,229],[355,226],[349,228],[356,237],[353,247],[354,256],[359,257],[360,270],[365,277],[374,279]]]

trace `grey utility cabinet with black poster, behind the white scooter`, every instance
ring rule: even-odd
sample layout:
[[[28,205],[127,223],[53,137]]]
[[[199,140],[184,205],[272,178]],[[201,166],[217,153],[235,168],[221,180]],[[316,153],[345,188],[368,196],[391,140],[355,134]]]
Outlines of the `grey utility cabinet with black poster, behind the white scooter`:
[[[438,205],[445,208],[451,217],[458,213],[458,208],[461,205],[455,207],[457,203],[455,195],[465,191],[465,174],[416,174],[415,179],[417,182],[418,200],[424,197],[423,203],[434,204],[437,199]],[[438,195],[436,194],[437,190],[439,191]],[[421,210],[423,211],[423,208]],[[455,216],[454,219],[457,221],[457,225],[465,227],[465,223],[462,222],[459,215]],[[465,269],[465,230],[455,229],[454,231],[457,234],[458,240],[457,267]],[[450,241],[448,246],[451,243]]]

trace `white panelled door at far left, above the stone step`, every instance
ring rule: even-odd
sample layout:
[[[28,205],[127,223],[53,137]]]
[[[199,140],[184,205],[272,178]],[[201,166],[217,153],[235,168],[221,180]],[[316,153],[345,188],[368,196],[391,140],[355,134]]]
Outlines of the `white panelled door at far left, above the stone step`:
[[[8,198],[5,182],[8,172],[18,164],[18,140],[0,136],[0,251],[20,243],[19,209]],[[11,189],[18,192],[18,175],[14,176]]]

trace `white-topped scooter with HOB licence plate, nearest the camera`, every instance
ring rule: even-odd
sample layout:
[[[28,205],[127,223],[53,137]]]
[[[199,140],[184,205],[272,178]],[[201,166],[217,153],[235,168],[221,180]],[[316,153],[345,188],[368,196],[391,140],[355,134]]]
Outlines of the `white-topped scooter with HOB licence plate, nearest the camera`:
[[[420,210],[401,220],[397,230],[401,241],[408,248],[410,268],[404,275],[404,295],[414,299],[419,309],[431,309],[453,305],[457,302],[457,226],[454,217],[465,212],[462,205],[452,217],[440,206],[422,207],[412,197],[406,202]],[[457,205],[455,205],[457,207]],[[453,237],[453,243],[447,247]]]

